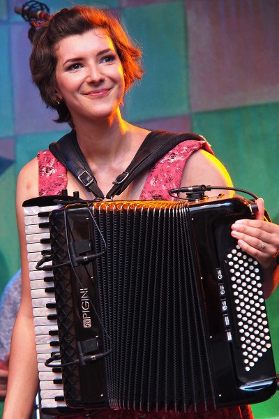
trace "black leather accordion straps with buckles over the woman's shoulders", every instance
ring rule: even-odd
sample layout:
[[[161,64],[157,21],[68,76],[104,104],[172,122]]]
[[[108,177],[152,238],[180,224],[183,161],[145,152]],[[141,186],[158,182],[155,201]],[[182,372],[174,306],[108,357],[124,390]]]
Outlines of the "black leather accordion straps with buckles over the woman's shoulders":
[[[128,168],[112,182],[112,189],[107,193],[106,198],[111,199],[115,195],[120,195],[140,172],[152,166],[169,150],[186,140],[204,141],[204,138],[194,133],[178,134],[167,131],[151,131],[146,135]],[[49,149],[54,157],[83,184],[87,191],[91,191],[96,198],[105,198],[78,145],[75,130],[63,135],[57,142],[52,142]]]

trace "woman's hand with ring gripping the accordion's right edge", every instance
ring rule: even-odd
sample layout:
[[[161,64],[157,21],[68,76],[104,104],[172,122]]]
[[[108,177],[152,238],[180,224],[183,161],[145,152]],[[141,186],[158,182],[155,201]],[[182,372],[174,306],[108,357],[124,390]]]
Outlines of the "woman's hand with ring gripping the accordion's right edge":
[[[276,279],[273,272],[276,269],[276,256],[279,251],[279,226],[264,221],[264,200],[256,200],[258,212],[255,219],[240,219],[232,224],[232,237],[250,256],[260,263],[266,283],[265,295],[270,295],[276,288]],[[266,295],[266,296],[267,296]]]

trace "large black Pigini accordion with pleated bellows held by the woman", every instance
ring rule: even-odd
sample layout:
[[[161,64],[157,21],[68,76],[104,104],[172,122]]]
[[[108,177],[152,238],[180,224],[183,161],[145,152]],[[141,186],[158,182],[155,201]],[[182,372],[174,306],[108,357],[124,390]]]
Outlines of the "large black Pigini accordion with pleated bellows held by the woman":
[[[43,198],[27,201],[27,224],[34,205],[46,215]],[[37,271],[44,275],[40,284],[32,280],[34,267],[30,274],[45,413],[220,408],[262,402],[276,392],[259,265],[230,235],[236,219],[253,217],[247,200],[47,210],[53,274],[50,266]],[[59,339],[42,337],[44,315],[36,314],[42,282],[52,293],[47,317],[55,318]],[[52,324],[43,327],[54,335]],[[51,348],[43,353],[47,340]],[[59,365],[46,367],[57,353]],[[56,373],[61,378],[51,376]]]

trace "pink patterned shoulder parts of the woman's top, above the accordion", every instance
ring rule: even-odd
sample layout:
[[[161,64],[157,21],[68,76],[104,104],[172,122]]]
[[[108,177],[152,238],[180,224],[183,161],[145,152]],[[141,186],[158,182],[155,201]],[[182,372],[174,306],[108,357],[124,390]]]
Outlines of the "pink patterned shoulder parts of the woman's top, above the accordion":
[[[189,157],[199,149],[213,154],[206,140],[188,140],[170,150],[151,168],[140,200],[174,200],[169,189],[179,188],[184,166]],[[67,170],[49,150],[38,153],[39,195],[61,195],[67,188]]]

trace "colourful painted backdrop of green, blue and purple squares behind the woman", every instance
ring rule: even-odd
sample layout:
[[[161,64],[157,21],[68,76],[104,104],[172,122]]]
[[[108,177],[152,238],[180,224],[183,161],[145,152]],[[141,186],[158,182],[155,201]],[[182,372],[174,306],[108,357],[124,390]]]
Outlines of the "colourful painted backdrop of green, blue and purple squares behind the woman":
[[[29,73],[29,25],[0,2],[0,293],[20,267],[15,222],[17,173],[66,131],[52,122]],[[146,73],[123,114],[152,129],[204,135],[235,186],[266,201],[279,221],[278,0],[46,0],[51,12],[73,3],[112,8],[142,45]],[[278,353],[278,291],[268,300]],[[276,358],[278,360],[278,358]],[[278,362],[279,369],[279,362]],[[253,407],[278,418],[278,397]]]

